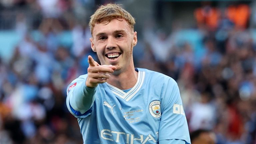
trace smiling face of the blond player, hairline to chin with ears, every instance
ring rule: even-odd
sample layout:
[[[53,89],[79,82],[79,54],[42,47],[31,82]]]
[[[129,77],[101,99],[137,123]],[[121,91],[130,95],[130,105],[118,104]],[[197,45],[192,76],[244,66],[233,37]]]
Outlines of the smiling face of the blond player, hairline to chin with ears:
[[[114,65],[119,73],[134,68],[132,49],[137,44],[137,32],[126,20],[95,24],[90,41],[102,65]]]

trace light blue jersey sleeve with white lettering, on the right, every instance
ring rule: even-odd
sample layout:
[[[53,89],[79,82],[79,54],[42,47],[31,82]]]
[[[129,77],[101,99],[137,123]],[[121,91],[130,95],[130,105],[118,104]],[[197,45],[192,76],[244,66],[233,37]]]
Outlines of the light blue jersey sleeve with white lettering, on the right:
[[[159,141],[179,139],[191,143],[180,91],[172,78],[166,80],[161,103]]]

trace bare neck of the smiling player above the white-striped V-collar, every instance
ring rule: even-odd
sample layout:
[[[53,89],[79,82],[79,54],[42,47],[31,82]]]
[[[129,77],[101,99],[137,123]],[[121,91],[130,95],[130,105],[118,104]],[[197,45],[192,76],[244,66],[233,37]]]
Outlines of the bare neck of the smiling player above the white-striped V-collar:
[[[138,72],[135,71],[135,68],[127,69],[120,74],[112,74],[108,79],[108,83],[112,86],[115,86],[121,90],[132,88],[138,79]]]

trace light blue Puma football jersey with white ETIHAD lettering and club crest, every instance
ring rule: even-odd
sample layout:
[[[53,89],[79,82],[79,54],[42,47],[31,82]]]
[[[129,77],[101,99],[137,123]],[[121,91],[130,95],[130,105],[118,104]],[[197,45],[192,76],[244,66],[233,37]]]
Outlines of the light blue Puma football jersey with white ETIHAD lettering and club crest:
[[[145,144],[180,139],[191,143],[179,88],[164,74],[136,68],[138,80],[129,90],[108,83],[85,86],[87,74],[67,88],[67,107],[78,118],[84,144]],[[74,91],[91,90],[95,101],[81,114],[70,105]]]

